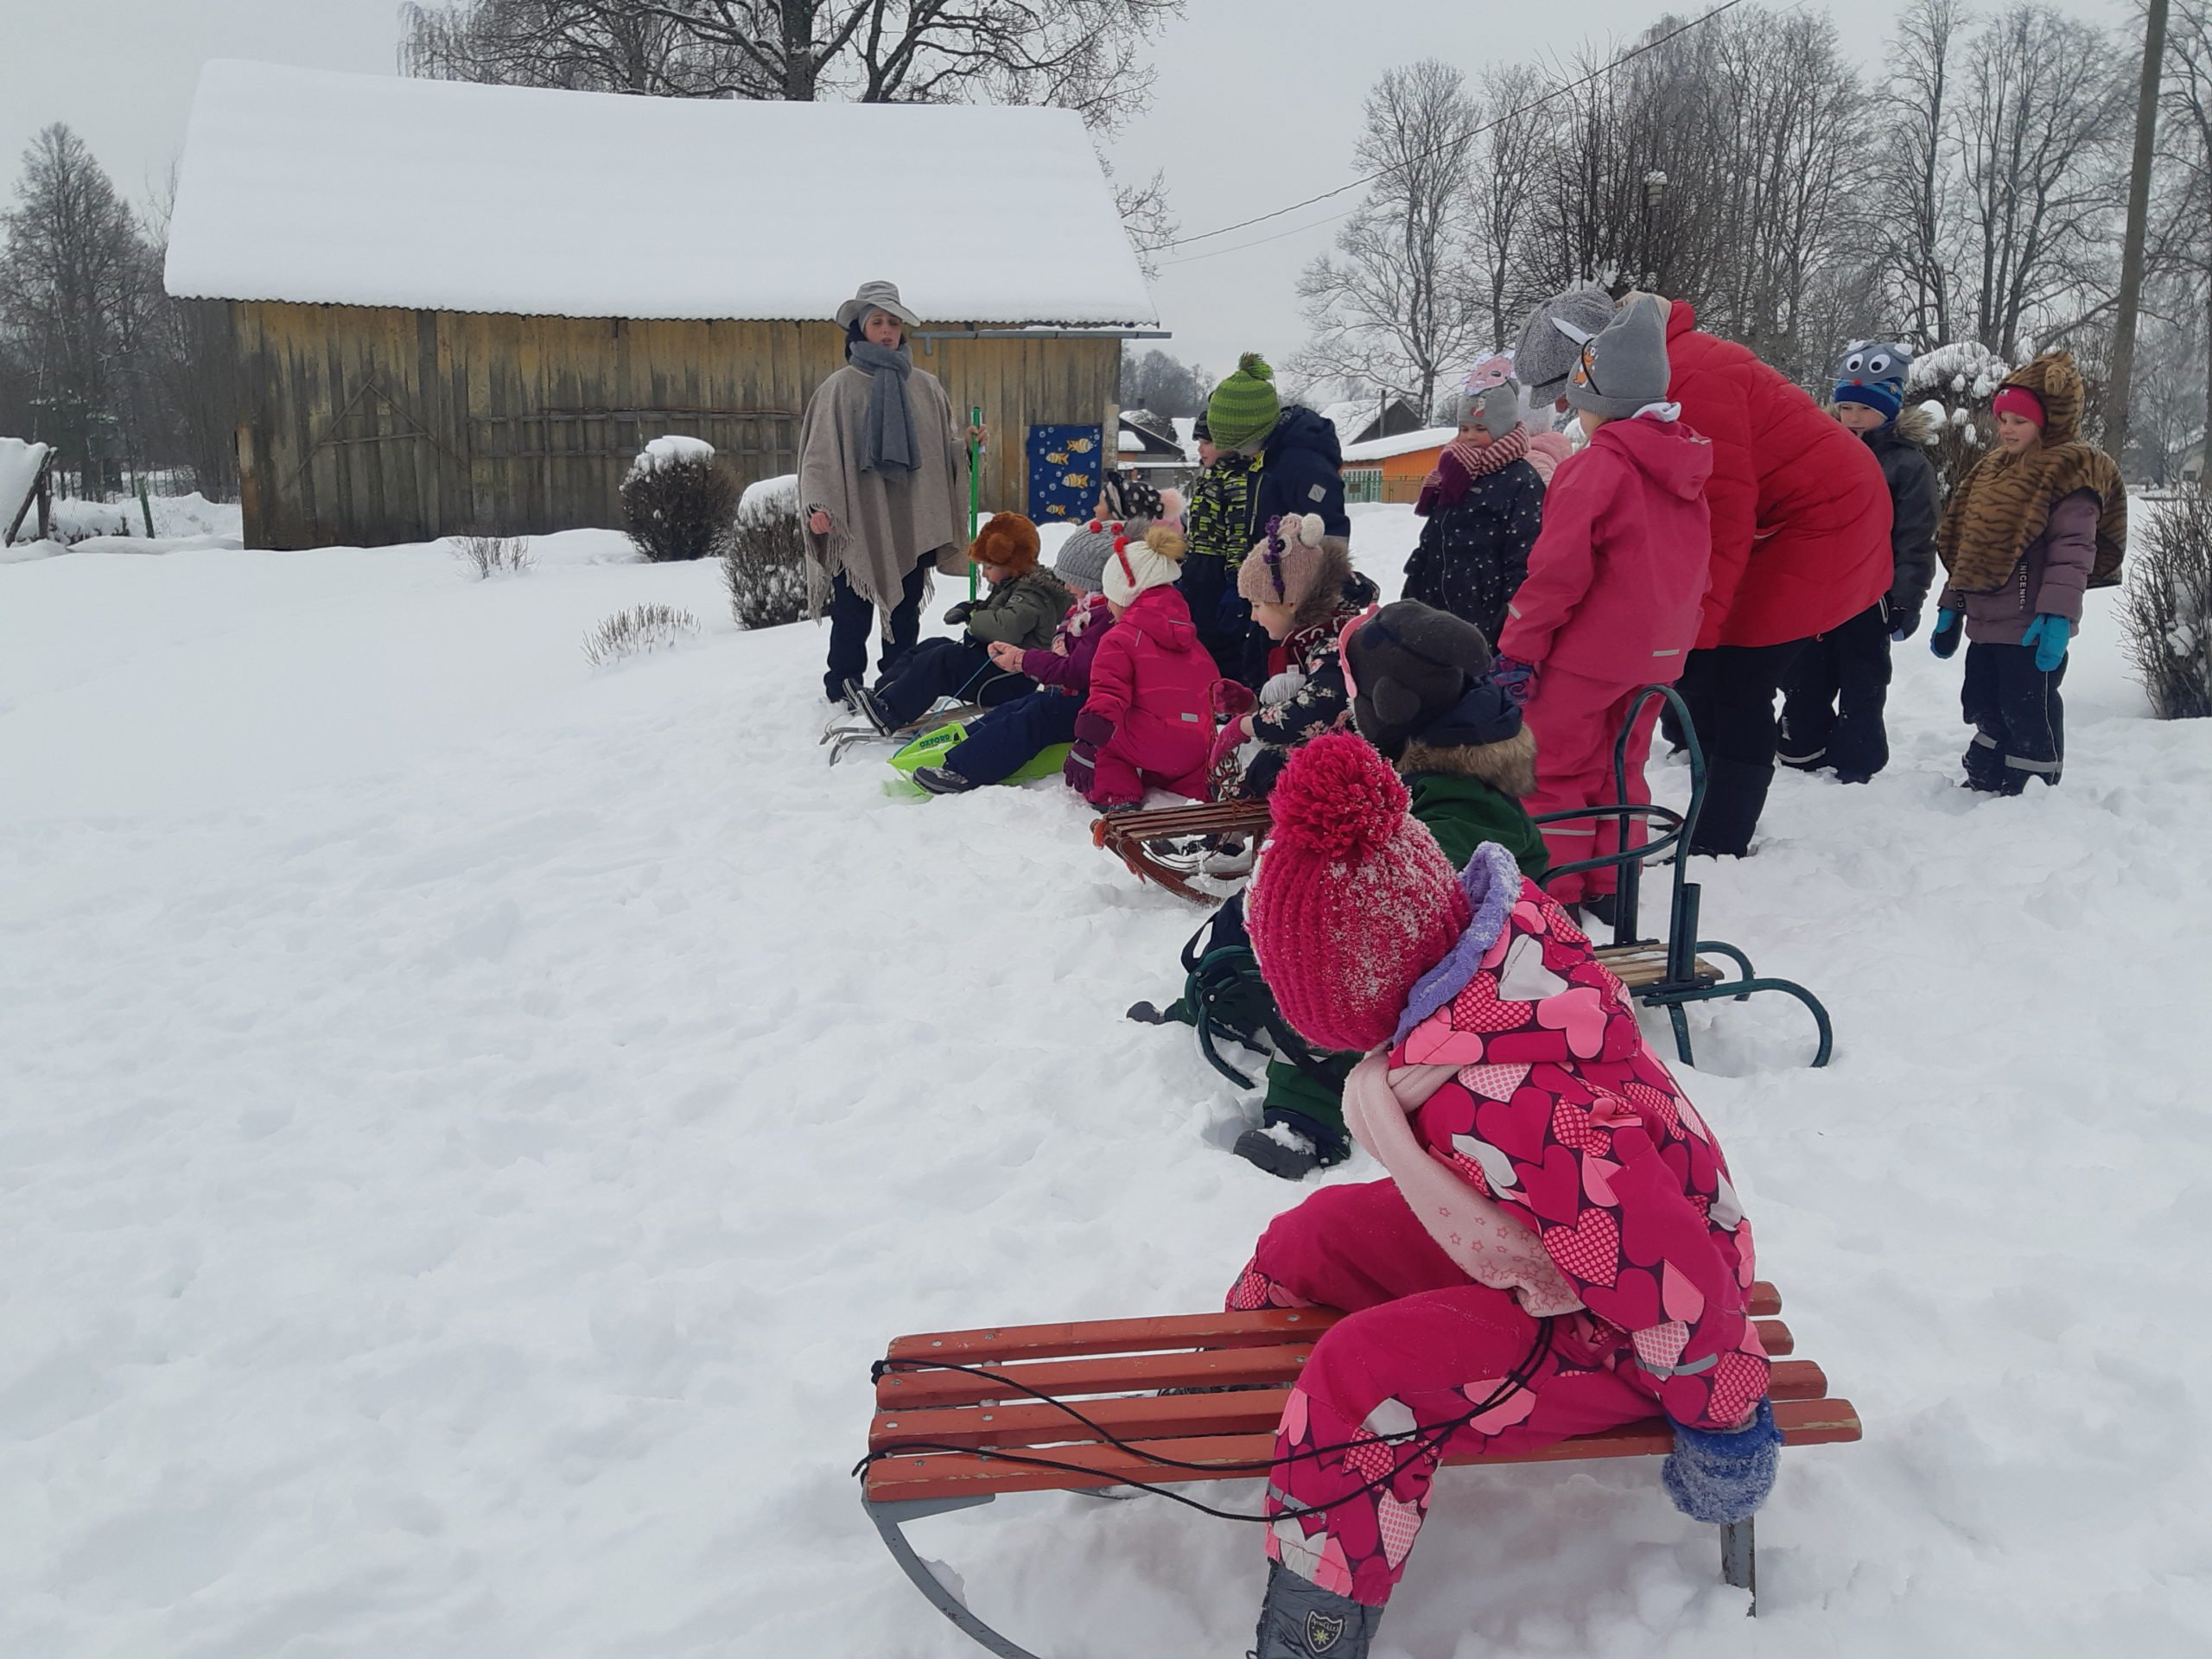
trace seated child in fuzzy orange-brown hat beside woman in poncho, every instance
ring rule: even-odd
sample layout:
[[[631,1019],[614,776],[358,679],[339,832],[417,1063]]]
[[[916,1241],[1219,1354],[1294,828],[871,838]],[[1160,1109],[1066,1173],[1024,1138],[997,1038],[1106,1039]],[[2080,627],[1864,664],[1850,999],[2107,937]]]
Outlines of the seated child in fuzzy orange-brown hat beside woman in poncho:
[[[940,697],[995,706],[1033,692],[1035,681],[991,664],[991,646],[1048,646],[1053,628],[1075,602],[1060,577],[1037,566],[1040,546],[1037,526],[1026,518],[993,513],[969,549],[969,557],[982,566],[984,593],[945,613],[947,622],[967,633],[958,639],[925,639],[891,664],[874,690],[858,679],[847,681],[845,701],[852,710],[889,734],[918,721]]]

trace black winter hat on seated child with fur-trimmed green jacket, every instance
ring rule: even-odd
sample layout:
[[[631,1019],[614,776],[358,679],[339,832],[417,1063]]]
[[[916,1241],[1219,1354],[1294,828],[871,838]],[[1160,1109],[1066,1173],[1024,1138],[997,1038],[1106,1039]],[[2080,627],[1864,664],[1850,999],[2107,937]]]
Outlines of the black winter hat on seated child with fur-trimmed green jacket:
[[[1352,721],[1398,759],[1416,737],[1440,745],[1500,743],[1520,730],[1520,708],[1491,681],[1482,628],[1418,599],[1394,599],[1354,628]]]

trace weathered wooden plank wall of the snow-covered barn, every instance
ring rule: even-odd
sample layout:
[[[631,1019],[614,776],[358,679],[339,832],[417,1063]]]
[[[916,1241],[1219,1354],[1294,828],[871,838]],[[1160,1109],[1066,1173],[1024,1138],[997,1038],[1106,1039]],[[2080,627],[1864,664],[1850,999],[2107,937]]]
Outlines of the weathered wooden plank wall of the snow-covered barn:
[[[832,323],[666,323],[237,301],[239,495],[252,546],[376,546],[619,524],[650,438],[706,438],[743,482],[799,465],[845,358]],[[1029,498],[1035,422],[1115,431],[1121,347],[938,341],[916,365],[991,425],[982,504]]]

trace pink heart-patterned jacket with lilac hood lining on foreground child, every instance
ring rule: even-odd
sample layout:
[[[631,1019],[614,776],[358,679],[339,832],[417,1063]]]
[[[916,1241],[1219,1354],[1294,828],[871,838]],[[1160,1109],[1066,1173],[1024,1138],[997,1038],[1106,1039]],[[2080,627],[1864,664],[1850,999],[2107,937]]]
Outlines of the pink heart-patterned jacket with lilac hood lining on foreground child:
[[[1389,1051],[1394,1068],[1453,1068],[1413,1137],[1542,1239],[1593,1336],[1670,1418],[1734,1429],[1767,1391],[1767,1358],[1721,1146],[1582,929],[1509,858],[1491,863],[1489,902],[1413,989]]]

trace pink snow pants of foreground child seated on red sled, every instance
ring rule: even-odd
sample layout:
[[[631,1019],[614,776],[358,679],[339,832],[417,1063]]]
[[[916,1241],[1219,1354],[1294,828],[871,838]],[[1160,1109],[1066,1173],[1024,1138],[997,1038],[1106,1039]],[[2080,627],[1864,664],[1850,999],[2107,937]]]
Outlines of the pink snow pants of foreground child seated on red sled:
[[[1267,1557],[1367,1606],[1396,1588],[1447,1451],[1535,1451],[1659,1409],[1641,1374],[1606,1369],[1617,1345],[1588,1316],[1551,1321],[1546,1352],[1540,1321],[1462,1274],[1391,1181],[1323,1188],[1279,1214],[1228,1305],[1349,1314],[1283,1407]]]

